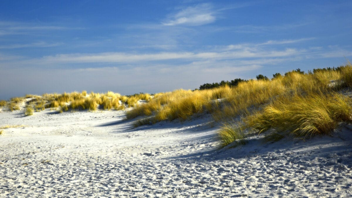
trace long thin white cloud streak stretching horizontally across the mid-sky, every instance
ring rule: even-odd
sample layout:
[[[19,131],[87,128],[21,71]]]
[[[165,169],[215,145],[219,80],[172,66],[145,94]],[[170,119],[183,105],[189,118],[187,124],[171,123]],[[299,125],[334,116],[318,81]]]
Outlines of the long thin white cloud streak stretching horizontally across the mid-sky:
[[[38,63],[137,63],[145,61],[164,61],[164,60],[208,60],[208,59],[238,59],[238,58],[260,58],[260,57],[284,57],[302,53],[297,49],[284,50],[258,50],[245,49],[224,52],[158,52],[154,54],[129,54],[121,52],[108,52],[98,54],[59,54],[56,56],[44,56]]]

